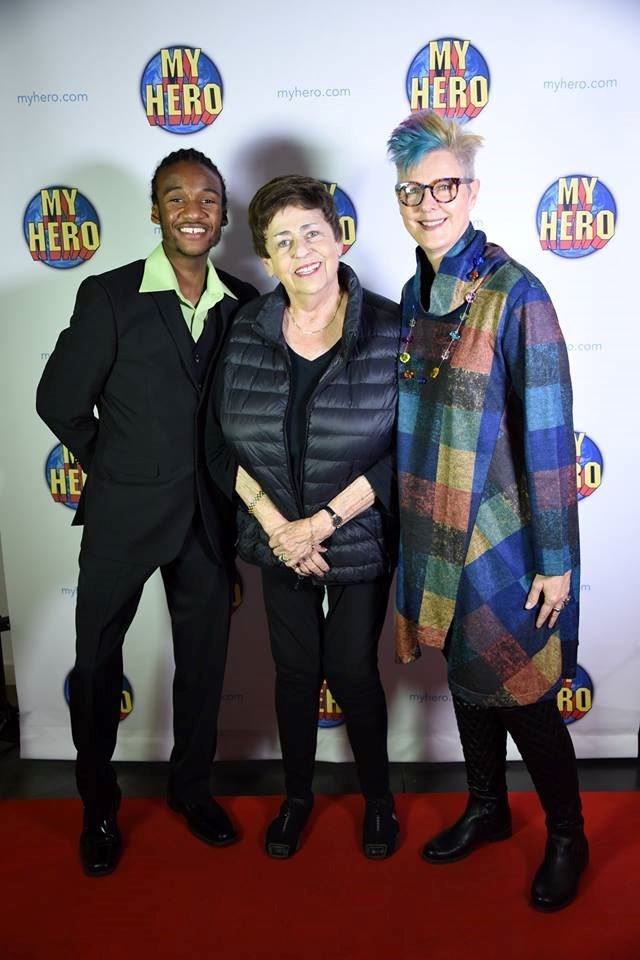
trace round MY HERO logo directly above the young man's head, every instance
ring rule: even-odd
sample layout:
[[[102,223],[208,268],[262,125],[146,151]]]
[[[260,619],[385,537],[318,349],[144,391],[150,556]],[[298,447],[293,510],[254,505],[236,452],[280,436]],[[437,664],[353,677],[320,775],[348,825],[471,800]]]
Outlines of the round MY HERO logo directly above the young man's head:
[[[141,89],[147,121],[194,133],[222,112],[222,80],[200,47],[166,47],[144,68]]]

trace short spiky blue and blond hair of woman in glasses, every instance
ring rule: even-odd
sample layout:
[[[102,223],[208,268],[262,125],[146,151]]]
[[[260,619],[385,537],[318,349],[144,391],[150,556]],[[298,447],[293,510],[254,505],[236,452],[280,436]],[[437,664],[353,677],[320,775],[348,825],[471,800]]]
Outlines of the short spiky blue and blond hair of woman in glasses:
[[[482,137],[464,133],[455,120],[446,120],[434,110],[417,110],[395,128],[387,148],[398,172],[405,175],[411,167],[434,150],[449,150],[460,162],[465,176],[475,176],[473,162]]]

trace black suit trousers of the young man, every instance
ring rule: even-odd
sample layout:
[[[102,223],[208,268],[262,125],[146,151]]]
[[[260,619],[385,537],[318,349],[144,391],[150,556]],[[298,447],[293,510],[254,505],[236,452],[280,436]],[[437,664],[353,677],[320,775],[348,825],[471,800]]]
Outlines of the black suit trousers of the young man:
[[[76,782],[91,812],[108,809],[116,794],[110,760],[120,717],[122,647],[144,584],[156,569],[80,552],[76,661],[69,692]],[[230,578],[213,558],[198,515],[178,555],[160,571],[175,659],[168,789],[181,800],[197,801],[210,795],[229,635]]]

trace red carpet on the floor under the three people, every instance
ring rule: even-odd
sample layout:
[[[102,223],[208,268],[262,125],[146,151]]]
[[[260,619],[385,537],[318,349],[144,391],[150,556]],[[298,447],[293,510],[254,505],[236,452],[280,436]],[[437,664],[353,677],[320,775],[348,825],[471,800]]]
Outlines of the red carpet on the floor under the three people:
[[[276,797],[227,806],[243,839],[212,849],[160,800],[125,800],[117,872],[85,878],[76,800],[0,804],[1,960],[640,960],[640,793],[587,793],[591,863],[581,895],[541,915],[527,893],[544,846],[532,794],[511,796],[514,836],[431,866],[424,840],[462,795],[398,797],[402,846],[359,852],[358,797],[316,801],[290,861],[262,852]]]

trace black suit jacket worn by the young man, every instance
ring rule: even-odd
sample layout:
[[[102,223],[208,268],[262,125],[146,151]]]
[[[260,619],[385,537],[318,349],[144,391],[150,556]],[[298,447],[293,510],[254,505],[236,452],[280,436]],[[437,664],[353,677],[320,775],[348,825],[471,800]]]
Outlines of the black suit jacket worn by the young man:
[[[225,295],[209,312],[217,337],[200,370],[178,298],[139,293],[143,270],[138,260],[82,282],[40,380],[37,410],[87,473],[73,521],[84,523],[85,549],[167,563],[199,503],[214,553],[228,564],[233,518],[207,476],[203,419],[231,320],[257,291],[218,271],[238,299]]]

